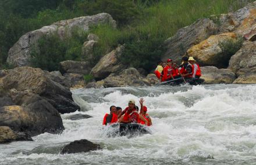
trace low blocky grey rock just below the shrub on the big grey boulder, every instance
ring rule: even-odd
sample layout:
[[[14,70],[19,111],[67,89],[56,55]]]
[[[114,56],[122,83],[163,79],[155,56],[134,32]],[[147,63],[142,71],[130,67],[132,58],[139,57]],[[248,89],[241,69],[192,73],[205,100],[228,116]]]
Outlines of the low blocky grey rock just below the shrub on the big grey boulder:
[[[62,61],[60,63],[60,68],[62,75],[63,74],[80,74],[87,75],[91,72],[90,63],[87,61]]]

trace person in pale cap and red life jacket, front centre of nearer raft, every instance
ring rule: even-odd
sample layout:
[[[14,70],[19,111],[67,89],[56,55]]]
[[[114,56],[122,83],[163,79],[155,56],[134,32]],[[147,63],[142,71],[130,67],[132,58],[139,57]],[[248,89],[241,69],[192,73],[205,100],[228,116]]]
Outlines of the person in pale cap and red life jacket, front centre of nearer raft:
[[[148,123],[148,121],[145,120],[143,116],[138,114],[134,100],[129,100],[128,107],[122,111],[121,115],[123,116],[121,116],[119,119],[120,123],[138,123],[140,120]]]

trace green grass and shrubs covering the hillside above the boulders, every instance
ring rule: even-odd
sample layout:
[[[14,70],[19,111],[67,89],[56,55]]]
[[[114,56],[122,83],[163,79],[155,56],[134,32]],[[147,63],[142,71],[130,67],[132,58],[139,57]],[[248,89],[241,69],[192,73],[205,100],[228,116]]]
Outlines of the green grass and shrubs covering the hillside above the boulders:
[[[93,50],[94,61],[120,44],[126,45],[120,57],[123,64],[151,71],[155,61],[161,59],[165,50],[163,41],[173,36],[179,28],[197,19],[215,14],[232,12],[253,1],[240,0],[56,0],[56,1],[1,1],[0,2],[0,69],[12,68],[6,64],[10,47],[26,32],[37,30],[56,21],[106,12],[116,20],[116,29],[99,25],[89,32],[99,36]],[[216,22],[218,24],[218,22]],[[77,30],[79,31],[79,30]],[[32,53],[33,66],[54,71],[61,61],[83,60],[81,47],[85,35],[61,39],[45,36],[38,41],[38,51]],[[54,43],[54,44],[53,44]],[[48,45],[54,45],[47,49]],[[42,58],[44,57],[44,58]]]

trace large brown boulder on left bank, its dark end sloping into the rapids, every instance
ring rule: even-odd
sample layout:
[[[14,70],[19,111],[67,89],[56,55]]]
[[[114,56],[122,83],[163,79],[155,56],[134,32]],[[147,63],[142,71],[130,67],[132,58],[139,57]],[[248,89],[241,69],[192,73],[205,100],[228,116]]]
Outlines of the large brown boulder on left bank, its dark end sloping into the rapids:
[[[3,89],[29,90],[49,101],[60,113],[80,110],[74,103],[72,93],[67,87],[51,80],[39,68],[19,67],[10,69],[0,78]]]

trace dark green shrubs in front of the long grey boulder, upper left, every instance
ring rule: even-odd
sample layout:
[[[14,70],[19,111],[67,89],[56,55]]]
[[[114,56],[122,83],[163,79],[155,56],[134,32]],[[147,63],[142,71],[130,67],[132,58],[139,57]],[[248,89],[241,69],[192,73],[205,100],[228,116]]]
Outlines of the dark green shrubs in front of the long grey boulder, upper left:
[[[87,33],[72,31],[61,39],[58,34],[42,36],[31,51],[31,65],[48,71],[59,69],[65,60],[81,60],[81,49]]]

